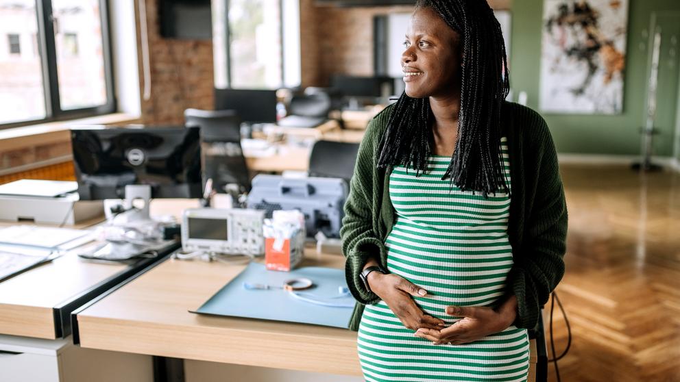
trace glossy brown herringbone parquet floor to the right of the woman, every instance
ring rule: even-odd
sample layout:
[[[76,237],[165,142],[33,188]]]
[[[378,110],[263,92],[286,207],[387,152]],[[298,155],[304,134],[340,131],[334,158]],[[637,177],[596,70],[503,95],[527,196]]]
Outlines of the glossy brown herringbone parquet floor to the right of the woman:
[[[569,231],[557,293],[572,326],[561,380],[680,381],[680,174],[575,165],[561,173]],[[555,307],[559,354],[567,330]],[[557,381],[552,364],[548,379]]]

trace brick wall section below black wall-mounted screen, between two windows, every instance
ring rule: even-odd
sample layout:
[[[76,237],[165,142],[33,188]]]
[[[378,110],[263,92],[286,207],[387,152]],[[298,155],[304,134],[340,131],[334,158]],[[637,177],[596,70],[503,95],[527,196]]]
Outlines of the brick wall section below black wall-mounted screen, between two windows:
[[[151,67],[151,98],[142,99],[142,123],[182,125],[189,107],[212,110],[214,105],[213,42],[172,40],[160,36],[158,0],[146,0]],[[137,14],[137,17],[139,15]],[[138,61],[141,63],[141,37]],[[143,91],[143,68],[139,68]]]

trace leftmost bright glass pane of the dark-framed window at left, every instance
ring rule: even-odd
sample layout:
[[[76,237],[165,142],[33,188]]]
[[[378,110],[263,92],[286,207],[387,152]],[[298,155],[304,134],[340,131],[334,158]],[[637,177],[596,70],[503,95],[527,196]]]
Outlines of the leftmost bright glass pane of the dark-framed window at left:
[[[45,118],[34,0],[0,0],[0,124]]]

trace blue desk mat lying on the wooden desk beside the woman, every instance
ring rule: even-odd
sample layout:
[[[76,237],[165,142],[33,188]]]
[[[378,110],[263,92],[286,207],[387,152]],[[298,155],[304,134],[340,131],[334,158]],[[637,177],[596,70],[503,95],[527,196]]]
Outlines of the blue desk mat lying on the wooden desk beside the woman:
[[[314,283],[313,288],[302,290],[301,293],[334,303],[351,305],[354,302],[352,296],[337,298],[338,288],[347,287],[343,270],[305,267],[291,272],[278,272],[267,270],[263,264],[250,263],[241,274],[192,313],[347,328],[352,316],[351,307],[327,307],[300,301],[282,289],[247,290],[243,286],[243,283],[281,286],[284,281],[300,277],[311,279]]]

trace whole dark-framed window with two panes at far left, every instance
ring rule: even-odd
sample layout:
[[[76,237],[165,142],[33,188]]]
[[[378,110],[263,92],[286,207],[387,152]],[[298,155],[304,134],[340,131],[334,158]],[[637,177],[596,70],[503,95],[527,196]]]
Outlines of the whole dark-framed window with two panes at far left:
[[[107,3],[0,0],[0,129],[115,110]]]

